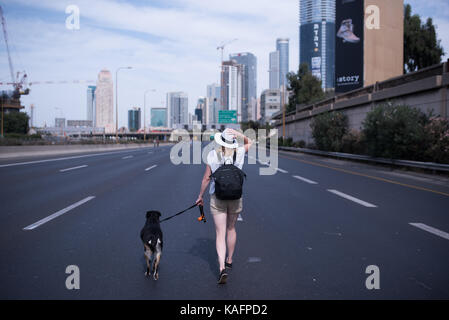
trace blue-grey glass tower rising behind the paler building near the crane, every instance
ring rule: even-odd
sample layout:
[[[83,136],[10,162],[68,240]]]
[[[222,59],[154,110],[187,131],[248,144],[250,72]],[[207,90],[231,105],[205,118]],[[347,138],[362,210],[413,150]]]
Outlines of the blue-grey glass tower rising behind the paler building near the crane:
[[[243,65],[242,121],[256,120],[257,113],[257,58],[250,52],[234,53],[229,56]]]

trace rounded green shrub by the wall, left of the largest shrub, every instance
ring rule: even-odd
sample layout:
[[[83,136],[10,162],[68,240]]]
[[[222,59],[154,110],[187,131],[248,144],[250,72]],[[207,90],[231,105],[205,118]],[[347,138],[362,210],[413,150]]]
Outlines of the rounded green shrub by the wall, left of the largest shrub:
[[[348,131],[348,117],[336,111],[323,113],[312,120],[310,127],[318,149],[338,152]]]

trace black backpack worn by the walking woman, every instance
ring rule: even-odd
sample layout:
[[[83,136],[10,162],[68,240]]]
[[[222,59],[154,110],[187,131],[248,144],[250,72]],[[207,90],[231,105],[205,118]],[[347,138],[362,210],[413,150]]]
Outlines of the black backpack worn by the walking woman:
[[[232,164],[223,164],[211,174],[215,181],[215,196],[220,200],[238,200],[242,197],[246,174],[234,165],[236,157],[237,150],[234,152]]]

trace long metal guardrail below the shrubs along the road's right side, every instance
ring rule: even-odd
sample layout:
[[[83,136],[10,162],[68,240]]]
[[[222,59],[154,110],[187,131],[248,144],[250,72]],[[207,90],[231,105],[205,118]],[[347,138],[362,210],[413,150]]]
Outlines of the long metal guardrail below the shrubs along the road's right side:
[[[448,164],[439,164],[439,163],[434,163],[434,162],[418,162],[418,161],[409,161],[409,160],[373,158],[370,156],[363,156],[363,155],[358,155],[358,154],[327,152],[327,151],[312,150],[312,149],[305,149],[305,148],[279,147],[279,150],[302,152],[302,153],[315,154],[315,155],[320,155],[320,156],[336,157],[336,158],[341,158],[341,159],[375,162],[375,163],[389,164],[389,165],[395,165],[395,166],[403,166],[403,167],[412,167],[412,168],[428,169],[428,170],[434,170],[434,171],[449,172]]]

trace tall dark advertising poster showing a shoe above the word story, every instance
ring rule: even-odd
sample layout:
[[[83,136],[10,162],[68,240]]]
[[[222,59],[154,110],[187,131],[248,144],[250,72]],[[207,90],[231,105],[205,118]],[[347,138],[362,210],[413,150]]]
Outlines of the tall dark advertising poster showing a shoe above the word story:
[[[336,1],[335,92],[363,87],[364,0]]]

